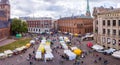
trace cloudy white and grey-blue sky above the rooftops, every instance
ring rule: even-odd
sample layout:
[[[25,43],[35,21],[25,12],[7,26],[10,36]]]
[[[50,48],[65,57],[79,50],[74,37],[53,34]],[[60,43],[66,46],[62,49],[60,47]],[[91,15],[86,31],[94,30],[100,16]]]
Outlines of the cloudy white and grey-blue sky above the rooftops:
[[[86,0],[10,0],[11,18],[14,17],[68,17],[85,14]],[[94,7],[120,7],[120,0],[89,0]]]

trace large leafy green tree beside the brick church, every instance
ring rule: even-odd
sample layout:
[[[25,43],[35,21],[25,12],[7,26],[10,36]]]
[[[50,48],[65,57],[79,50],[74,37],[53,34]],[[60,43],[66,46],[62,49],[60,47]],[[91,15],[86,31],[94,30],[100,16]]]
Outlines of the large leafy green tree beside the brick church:
[[[17,18],[14,18],[12,20],[12,23],[11,23],[11,31],[13,34],[16,34],[16,33],[25,33],[27,32],[27,23],[20,20],[20,19],[17,19]]]

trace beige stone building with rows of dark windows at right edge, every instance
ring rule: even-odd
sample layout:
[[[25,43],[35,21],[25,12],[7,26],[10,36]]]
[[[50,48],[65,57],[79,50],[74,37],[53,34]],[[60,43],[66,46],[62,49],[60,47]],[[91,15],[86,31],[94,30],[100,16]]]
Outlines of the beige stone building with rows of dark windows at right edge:
[[[102,8],[102,9],[101,9]],[[102,11],[100,11],[102,10]],[[95,43],[105,48],[120,49],[120,9],[94,8]]]

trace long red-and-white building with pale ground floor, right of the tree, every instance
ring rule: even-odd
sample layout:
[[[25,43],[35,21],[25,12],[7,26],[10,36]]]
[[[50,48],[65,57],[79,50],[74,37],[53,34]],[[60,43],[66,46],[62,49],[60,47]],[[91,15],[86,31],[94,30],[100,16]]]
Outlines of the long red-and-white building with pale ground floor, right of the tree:
[[[53,29],[53,20],[50,17],[21,17],[28,24],[28,32],[43,33]]]

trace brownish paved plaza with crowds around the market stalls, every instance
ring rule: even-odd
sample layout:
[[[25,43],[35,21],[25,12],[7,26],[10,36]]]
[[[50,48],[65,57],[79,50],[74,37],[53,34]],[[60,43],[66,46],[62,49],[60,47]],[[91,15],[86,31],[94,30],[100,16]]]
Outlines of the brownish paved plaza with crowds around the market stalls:
[[[55,34],[53,36],[40,35],[40,37],[48,37],[51,40],[53,39],[55,40],[53,41],[54,45],[52,46],[52,49],[54,49],[55,46],[60,45],[58,40],[59,36],[61,35],[59,34]],[[69,35],[66,35],[66,36],[70,37]],[[77,46],[81,50],[87,53],[84,58],[82,57],[78,58],[79,59],[78,61],[80,62],[79,65],[105,65],[104,64],[105,60],[108,61],[107,65],[120,65],[119,59],[116,59],[110,55],[104,55],[102,53],[92,51],[92,49],[88,48],[86,44],[87,42],[90,42],[90,41],[81,41],[81,42],[79,41],[80,41],[80,38],[78,37],[71,38],[72,46]],[[63,51],[64,51],[64,49],[61,49],[61,48],[56,48],[57,51],[53,50],[52,53],[54,55],[54,59],[52,61],[45,62],[44,60],[36,61],[34,59],[27,60],[29,54],[33,54],[33,50],[38,49],[39,44],[35,44],[33,47],[29,48],[25,53],[15,55],[10,58],[6,58],[4,60],[0,60],[0,65],[30,65],[30,62],[33,63],[32,65],[75,65],[75,60],[69,61],[61,58],[60,55],[63,54]],[[101,57],[101,60],[98,60],[100,57]],[[61,63],[62,60],[63,60],[63,63]],[[94,62],[95,60],[96,60],[96,63]]]

